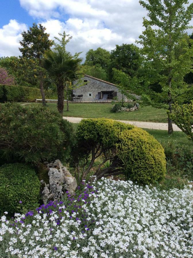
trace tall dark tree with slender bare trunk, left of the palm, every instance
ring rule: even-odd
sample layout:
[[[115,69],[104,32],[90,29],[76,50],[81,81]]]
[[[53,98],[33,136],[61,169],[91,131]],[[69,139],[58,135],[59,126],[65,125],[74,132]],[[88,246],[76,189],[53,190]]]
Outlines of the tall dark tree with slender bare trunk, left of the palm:
[[[49,34],[45,32],[46,28],[41,24],[33,23],[33,26],[29,28],[26,32],[22,32],[22,40],[20,41],[19,48],[22,53],[22,58],[26,58],[28,60],[33,60],[34,62],[37,60],[38,62],[38,74],[40,80],[40,91],[42,94],[42,103],[46,105],[45,102],[45,93],[43,88],[43,79],[45,77],[44,70],[42,69],[42,57],[46,50],[49,50],[53,45],[53,40],[49,40]],[[36,69],[36,70],[37,70]]]

